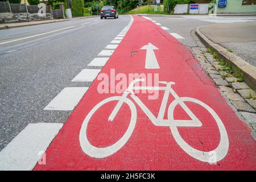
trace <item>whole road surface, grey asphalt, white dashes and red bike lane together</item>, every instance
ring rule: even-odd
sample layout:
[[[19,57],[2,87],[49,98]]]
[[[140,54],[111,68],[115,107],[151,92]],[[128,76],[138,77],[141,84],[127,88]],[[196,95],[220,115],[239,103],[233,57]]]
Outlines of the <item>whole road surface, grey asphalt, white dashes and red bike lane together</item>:
[[[1,169],[254,170],[253,138],[188,49],[210,23],[125,15],[1,30]],[[159,92],[121,100],[129,73],[162,81]]]

